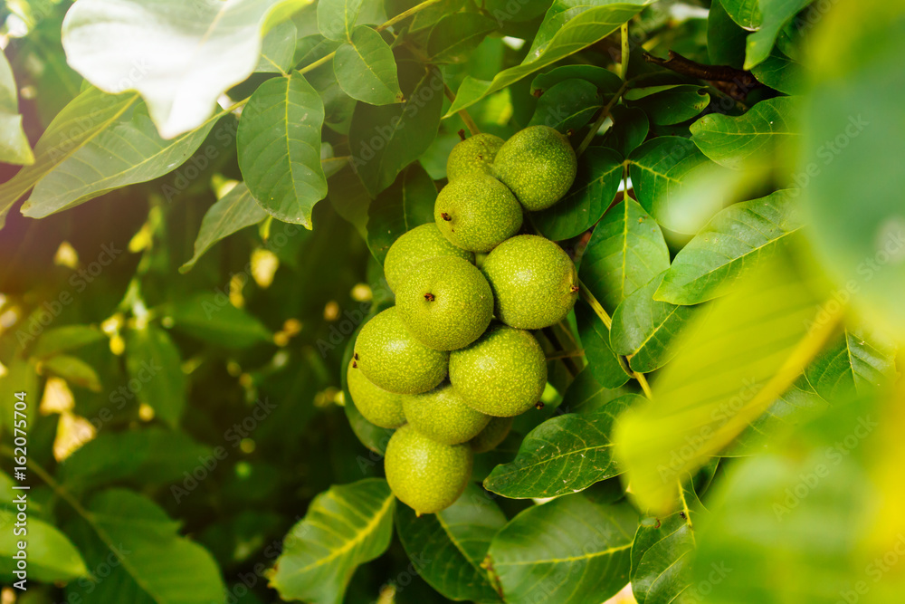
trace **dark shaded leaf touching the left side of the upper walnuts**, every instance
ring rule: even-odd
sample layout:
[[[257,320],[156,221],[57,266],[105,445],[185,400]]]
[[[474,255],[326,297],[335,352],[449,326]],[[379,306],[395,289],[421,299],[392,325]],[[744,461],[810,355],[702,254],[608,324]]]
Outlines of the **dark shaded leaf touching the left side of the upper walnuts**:
[[[367,208],[367,246],[380,264],[390,246],[415,226],[433,223],[437,187],[421,164],[414,163]]]

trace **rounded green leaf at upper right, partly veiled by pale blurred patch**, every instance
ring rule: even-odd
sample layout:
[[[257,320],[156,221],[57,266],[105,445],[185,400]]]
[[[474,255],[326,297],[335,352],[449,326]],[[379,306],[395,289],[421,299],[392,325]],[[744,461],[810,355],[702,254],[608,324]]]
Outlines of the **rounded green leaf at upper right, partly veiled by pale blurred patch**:
[[[696,205],[689,193],[717,177],[718,169],[691,140],[680,137],[648,140],[629,156],[635,197],[643,208],[664,228],[690,235],[698,232],[699,215],[713,208]]]

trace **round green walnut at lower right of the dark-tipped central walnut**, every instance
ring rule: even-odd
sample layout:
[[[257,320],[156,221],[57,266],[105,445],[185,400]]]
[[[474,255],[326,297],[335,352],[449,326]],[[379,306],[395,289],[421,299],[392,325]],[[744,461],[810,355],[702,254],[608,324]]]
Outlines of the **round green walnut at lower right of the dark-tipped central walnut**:
[[[547,359],[529,331],[492,325],[471,346],[450,355],[450,381],[481,413],[512,417],[527,411],[547,385]]]

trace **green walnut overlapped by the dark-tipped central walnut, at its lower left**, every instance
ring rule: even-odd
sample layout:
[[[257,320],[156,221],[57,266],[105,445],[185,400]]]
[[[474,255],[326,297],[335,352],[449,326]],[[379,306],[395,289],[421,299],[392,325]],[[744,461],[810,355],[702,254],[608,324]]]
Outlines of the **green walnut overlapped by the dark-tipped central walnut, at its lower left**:
[[[418,394],[443,381],[449,353],[429,349],[416,340],[393,306],[361,328],[352,359],[379,388],[397,394]]]

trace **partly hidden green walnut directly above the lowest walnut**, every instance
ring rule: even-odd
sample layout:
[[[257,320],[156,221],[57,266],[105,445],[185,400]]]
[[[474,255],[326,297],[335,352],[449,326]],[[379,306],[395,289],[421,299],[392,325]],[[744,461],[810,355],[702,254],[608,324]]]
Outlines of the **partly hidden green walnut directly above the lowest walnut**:
[[[448,383],[424,394],[405,397],[403,407],[409,426],[443,445],[464,443],[491,421],[490,416],[466,405]]]

